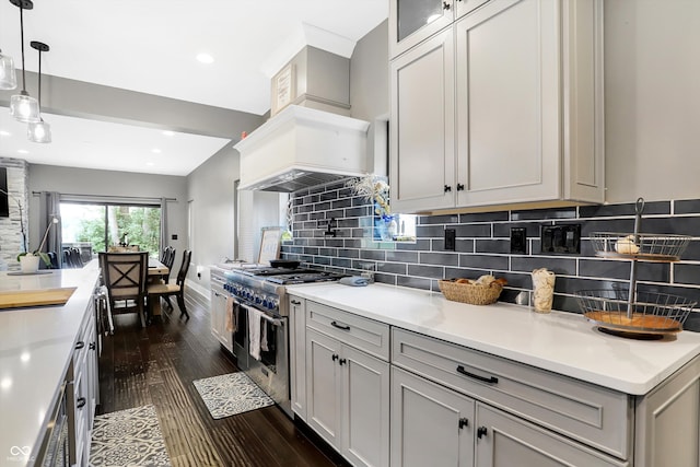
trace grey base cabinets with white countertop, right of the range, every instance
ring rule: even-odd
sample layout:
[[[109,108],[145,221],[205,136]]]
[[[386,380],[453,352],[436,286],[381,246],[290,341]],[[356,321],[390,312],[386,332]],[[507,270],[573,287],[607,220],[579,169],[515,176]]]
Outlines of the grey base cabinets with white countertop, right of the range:
[[[305,342],[292,406],[354,464],[698,465],[700,334],[625,339],[579,314],[385,284],[288,293],[292,340]],[[337,401],[315,390],[332,381]]]

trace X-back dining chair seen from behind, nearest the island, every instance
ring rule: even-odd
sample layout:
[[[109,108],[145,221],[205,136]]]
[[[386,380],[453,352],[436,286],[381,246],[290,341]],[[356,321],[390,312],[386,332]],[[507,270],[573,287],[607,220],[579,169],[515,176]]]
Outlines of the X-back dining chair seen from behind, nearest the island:
[[[107,288],[107,317],[114,334],[113,315],[138,313],[141,326],[149,319],[145,308],[148,252],[98,253],[102,278]]]

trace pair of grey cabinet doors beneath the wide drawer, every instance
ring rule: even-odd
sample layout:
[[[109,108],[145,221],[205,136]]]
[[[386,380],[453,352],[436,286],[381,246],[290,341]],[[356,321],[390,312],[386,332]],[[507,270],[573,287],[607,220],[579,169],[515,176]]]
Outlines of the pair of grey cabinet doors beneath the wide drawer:
[[[421,376],[392,367],[393,466],[625,466]]]

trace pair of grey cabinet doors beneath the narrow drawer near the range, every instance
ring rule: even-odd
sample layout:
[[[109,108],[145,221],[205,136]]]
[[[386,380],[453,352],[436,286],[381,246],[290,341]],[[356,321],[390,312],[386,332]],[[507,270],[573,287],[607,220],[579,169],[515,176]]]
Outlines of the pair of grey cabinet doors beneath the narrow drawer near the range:
[[[355,466],[389,465],[389,364],[306,329],[306,423]]]

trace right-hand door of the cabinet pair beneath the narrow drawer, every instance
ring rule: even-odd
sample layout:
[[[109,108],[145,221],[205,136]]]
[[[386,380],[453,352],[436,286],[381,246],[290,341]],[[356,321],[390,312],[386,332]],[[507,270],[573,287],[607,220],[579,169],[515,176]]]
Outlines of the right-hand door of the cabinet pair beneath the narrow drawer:
[[[389,465],[389,364],[352,347],[340,355],[342,454],[355,466]]]

